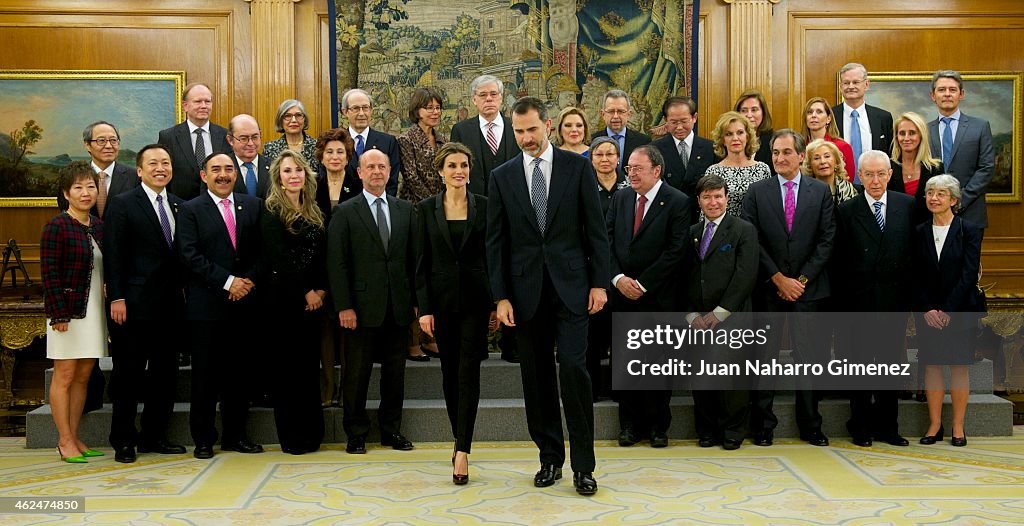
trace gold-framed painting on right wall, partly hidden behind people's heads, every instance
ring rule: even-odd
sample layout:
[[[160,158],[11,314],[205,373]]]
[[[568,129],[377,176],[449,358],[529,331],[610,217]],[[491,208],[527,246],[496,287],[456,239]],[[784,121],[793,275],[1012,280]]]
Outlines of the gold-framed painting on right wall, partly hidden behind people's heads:
[[[884,107],[899,119],[903,112],[916,112],[926,122],[938,118],[931,99],[934,72],[871,72],[871,85],[864,95],[868,104]],[[1021,172],[1024,170],[1021,142],[1024,72],[961,72],[964,78],[962,112],[980,117],[992,126],[995,168],[988,183],[988,203],[1020,203]],[[836,86],[839,89],[837,78]],[[837,100],[843,100],[839,92]]]

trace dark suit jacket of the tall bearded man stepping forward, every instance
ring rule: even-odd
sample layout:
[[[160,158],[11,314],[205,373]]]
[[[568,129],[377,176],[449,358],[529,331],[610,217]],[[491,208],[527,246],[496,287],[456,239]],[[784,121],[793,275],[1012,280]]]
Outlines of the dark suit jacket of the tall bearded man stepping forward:
[[[529,200],[523,155],[495,169],[487,193],[487,272],[496,300],[512,302],[516,319],[537,312],[550,276],[571,312],[587,313],[590,289],[608,287],[608,234],[590,160],[553,148],[547,229]]]

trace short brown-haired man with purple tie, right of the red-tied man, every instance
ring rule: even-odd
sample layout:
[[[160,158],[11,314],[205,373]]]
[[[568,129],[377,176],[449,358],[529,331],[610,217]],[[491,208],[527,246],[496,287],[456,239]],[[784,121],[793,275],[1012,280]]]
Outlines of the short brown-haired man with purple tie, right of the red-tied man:
[[[758,231],[754,225],[726,214],[729,187],[725,179],[707,175],[697,180],[697,203],[705,220],[690,227],[684,264],[693,271],[686,279],[687,322],[696,330],[748,328],[751,295],[757,282]],[[696,355],[712,363],[742,363],[742,349],[707,345]],[[738,449],[746,436],[749,392],[741,380],[694,377],[693,420],[697,445]],[[726,385],[728,382],[728,385]]]

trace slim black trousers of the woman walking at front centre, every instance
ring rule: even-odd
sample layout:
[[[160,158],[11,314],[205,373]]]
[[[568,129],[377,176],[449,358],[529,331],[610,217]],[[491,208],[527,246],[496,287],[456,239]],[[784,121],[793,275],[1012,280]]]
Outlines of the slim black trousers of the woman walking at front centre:
[[[434,316],[434,335],[441,353],[441,381],[455,446],[471,452],[476,411],[480,405],[480,360],[487,353],[490,313],[452,312]]]

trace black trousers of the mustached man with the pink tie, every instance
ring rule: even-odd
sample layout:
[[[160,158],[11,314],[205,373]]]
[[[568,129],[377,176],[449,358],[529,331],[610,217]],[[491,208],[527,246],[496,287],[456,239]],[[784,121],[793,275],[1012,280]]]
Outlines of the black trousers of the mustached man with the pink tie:
[[[249,350],[262,345],[251,336],[257,327],[251,323],[229,320],[188,321],[188,337],[193,354],[191,410],[188,428],[196,445],[213,445],[217,441],[217,398],[220,398],[220,423],[224,431],[222,443],[246,438],[249,415],[250,371],[266,367],[256,363]]]

